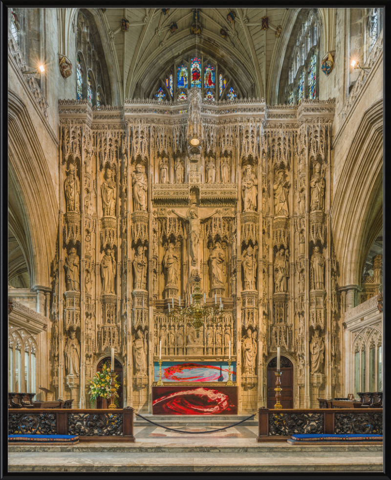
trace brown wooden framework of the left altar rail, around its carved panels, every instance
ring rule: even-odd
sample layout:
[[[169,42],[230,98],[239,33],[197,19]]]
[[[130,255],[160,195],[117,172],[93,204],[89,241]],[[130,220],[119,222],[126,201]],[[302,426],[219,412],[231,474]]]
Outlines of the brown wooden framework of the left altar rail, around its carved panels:
[[[8,409],[8,423],[12,425],[12,423],[15,423],[16,418],[18,418],[18,415],[27,415],[26,419],[29,417],[36,416],[36,420],[39,422],[40,417],[43,418],[45,416],[48,418],[48,415],[55,415],[55,427],[53,427],[53,430],[55,429],[55,434],[57,435],[68,435],[71,434],[72,432],[69,432],[69,426],[68,426],[68,418],[72,418],[72,415],[75,414],[89,414],[89,415],[112,415],[112,414],[117,414],[117,415],[122,415],[122,435],[106,435],[106,434],[98,434],[98,435],[79,435],[79,440],[80,441],[85,441],[85,442],[91,442],[91,441],[115,441],[115,442],[120,442],[120,441],[126,441],[126,442],[134,442],[134,436],[133,436],[133,409],[34,409],[34,408],[28,408],[28,409]],[[69,417],[70,416],[70,417]],[[19,417],[22,419],[22,417]],[[52,417],[53,418],[53,417]],[[10,427],[9,427],[10,428]],[[46,427],[47,428],[47,427]],[[8,432],[9,434],[17,434],[21,433],[20,429],[17,429],[19,431],[14,431],[14,432]],[[41,431],[40,431],[41,432]],[[35,432],[35,433],[40,433],[40,432]],[[54,434],[54,432],[53,432]]]

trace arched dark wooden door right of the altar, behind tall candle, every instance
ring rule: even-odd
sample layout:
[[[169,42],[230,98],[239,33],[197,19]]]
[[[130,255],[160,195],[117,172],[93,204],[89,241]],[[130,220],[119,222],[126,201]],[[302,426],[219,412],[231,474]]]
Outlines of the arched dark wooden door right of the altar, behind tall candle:
[[[281,405],[283,409],[293,409],[293,365],[286,357],[281,357]],[[272,358],[267,366],[267,408],[274,409],[276,404],[277,357]]]

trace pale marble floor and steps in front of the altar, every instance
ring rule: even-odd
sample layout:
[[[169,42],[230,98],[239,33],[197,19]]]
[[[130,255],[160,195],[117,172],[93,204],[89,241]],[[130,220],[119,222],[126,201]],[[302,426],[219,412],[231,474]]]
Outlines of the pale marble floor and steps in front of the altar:
[[[210,429],[215,427],[211,426]],[[217,427],[218,428],[218,427]],[[202,430],[208,428],[202,427]],[[181,430],[184,430],[181,427]],[[187,430],[201,430],[189,427]],[[10,446],[9,472],[382,472],[378,445],[257,443],[258,428],[180,434],[135,427],[135,443]],[[214,435],[214,436],[212,436]],[[209,439],[208,439],[209,438]]]

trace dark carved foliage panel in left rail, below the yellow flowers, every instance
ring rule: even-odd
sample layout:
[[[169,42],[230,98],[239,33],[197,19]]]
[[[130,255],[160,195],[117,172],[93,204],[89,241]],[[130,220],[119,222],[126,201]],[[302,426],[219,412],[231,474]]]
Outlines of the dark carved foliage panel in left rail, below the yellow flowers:
[[[122,435],[122,415],[118,413],[70,413],[68,434],[81,436]]]

